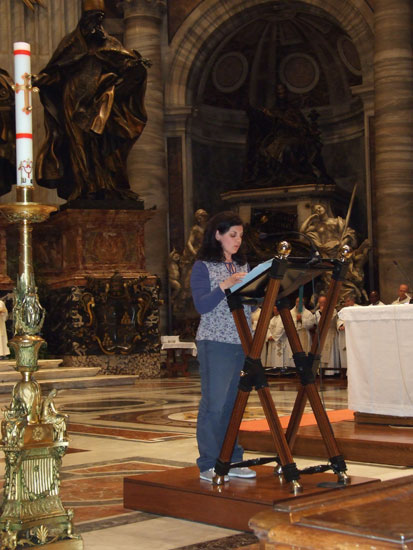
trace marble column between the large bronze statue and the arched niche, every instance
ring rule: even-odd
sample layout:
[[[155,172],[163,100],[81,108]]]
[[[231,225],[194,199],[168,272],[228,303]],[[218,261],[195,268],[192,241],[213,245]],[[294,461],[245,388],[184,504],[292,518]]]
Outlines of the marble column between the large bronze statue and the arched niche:
[[[146,268],[166,280],[167,176],[164,139],[164,104],[161,55],[164,0],[125,0],[121,3],[125,22],[124,45],[138,50],[151,60],[145,107],[148,122],[129,154],[128,174],[131,189],[156,207],[155,216],[145,226]],[[165,289],[166,284],[162,287]]]

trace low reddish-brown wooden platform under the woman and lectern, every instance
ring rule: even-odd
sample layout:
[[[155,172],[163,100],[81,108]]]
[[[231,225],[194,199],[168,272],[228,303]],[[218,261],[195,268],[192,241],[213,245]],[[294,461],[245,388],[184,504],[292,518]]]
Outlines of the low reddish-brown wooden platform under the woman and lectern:
[[[290,485],[281,485],[274,468],[258,466],[256,479],[231,478],[224,486],[199,479],[196,466],[166,470],[124,479],[124,506],[140,510],[247,531],[250,518],[269,510],[274,502],[300,498],[290,493]],[[360,484],[380,483],[371,478],[352,476],[347,487],[320,487],[337,481],[334,474],[301,477],[302,495],[347,492]]]

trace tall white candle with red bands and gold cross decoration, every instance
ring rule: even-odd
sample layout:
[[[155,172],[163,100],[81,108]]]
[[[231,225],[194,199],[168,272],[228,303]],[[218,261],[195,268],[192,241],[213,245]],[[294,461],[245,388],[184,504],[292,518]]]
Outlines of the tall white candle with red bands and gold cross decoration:
[[[30,44],[15,42],[14,80],[16,101],[17,185],[33,185],[33,134]]]

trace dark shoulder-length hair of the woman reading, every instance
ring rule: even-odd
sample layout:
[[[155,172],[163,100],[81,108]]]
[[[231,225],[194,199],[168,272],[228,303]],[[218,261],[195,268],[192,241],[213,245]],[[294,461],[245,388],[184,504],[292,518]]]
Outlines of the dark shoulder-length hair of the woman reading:
[[[243,221],[235,212],[230,210],[215,214],[207,223],[204,232],[204,239],[202,241],[201,248],[197,254],[198,260],[205,260],[207,262],[223,262],[225,260],[222,245],[215,238],[215,233],[219,231],[221,235],[227,233],[234,225],[244,226]],[[246,263],[245,253],[240,246],[238,252],[233,254],[233,261],[239,265]]]

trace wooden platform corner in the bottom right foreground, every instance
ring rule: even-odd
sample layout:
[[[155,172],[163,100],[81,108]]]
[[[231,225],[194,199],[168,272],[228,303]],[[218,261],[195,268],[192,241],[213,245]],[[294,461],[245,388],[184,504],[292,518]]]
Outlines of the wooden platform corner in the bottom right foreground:
[[[250,527],[266,550],[413,548],[413,476],[303,496],[260,512]]]

